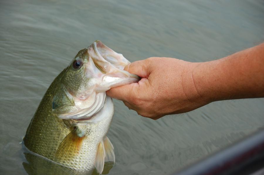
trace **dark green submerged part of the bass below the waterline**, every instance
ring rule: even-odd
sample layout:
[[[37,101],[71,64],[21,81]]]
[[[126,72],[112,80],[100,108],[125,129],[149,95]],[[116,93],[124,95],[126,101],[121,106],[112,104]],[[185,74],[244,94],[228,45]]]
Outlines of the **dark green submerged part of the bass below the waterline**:
[[[22,164],[29,175],[99,175],[96,169],[92,172],[77,171],[65,165],[56,163],[29,151],[24,145],[23,151],[27,162],[23,162]],[[108,174],[113,166],[113,162],[105,162],[102,174]]]

